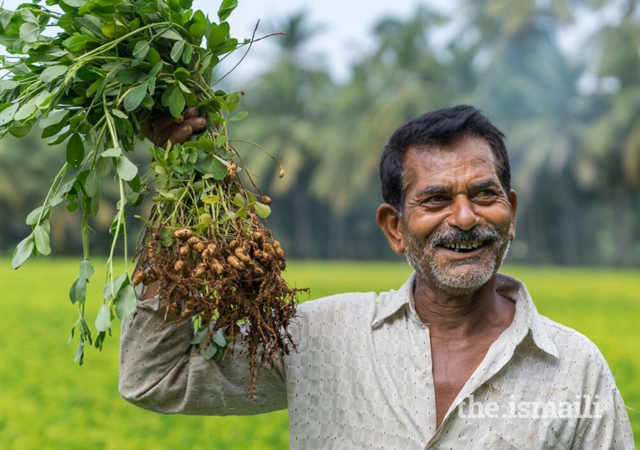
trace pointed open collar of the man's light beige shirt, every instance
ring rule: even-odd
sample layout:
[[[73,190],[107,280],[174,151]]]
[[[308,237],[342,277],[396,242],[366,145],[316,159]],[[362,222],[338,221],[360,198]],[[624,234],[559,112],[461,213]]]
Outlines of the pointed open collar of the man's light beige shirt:
[[[414,282],[415,271],[408,280],[404,282],[400,289],[390,291],[371,322],[372,328],[381,326],[386,319],[396,314],[396,312],[403,307],[410,309],[410,318],[420,323],[420,319],[415,314],[415,307],[413,306]],[[509,298],[509,300],[515,301],[515,316],[513,317],[513,323],[508,328],[514,344],[519,344],[530,332],[534,343],[540,350],[557,358],[557,348],[551,341],[547,328],[543,323],[543,317],[538,313],[536,305],[534,305],[531,295],[529,291],[527,291],[524,283],[517,278],[499,273],[495,288],[501,295]]]

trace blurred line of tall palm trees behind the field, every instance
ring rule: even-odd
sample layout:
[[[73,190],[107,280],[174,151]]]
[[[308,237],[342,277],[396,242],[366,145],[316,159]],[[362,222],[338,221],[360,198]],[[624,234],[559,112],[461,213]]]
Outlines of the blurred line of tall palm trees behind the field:
[[[579,17],[605,17],[582,44],[561,36]],[[584,28],[584,27],[583,27]],[[285,31],[260,76],[243,86],[250,116],[230,136],[273,198],[268,226],[297,258],[388,258],[374,221],[378,163],[390,134],[426,111],[459,103],[482,109],[507,136],[519,194],[509,258],[541,264],[640,266],[640,9],[635,0],[460,0],[452,15],[420,6],[381,20],[375,47],[347,81],[310,61],[321,33],[304,13]],[[443,34],[449,39],[438,39]],[[576,33],[580,33],[580,27]],[[145,145],[134,155],[147,168]],[[38,136],[0,141],[0,249],[26,233],[64,151]],[[103,185],[104,186],[104,185]],[[103,195],[92,252],[106,249],[117,192]],[[145,204],[129,211],[148,213]],[[52,211],[54,253],[81,252],[79,216]],[[101,247],[102,246],[102,247]]]

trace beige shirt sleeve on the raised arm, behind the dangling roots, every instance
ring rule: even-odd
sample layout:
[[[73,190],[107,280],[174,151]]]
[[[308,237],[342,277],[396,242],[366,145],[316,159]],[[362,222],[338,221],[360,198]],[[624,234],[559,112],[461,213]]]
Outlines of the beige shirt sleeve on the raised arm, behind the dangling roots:
[[[136,289],[141,296],[141,289]],[[241,339],[233,354],[206,360],[190,341],[193,323],[164,321],[158,297],[138,300],[122,321],[120,394],[134,405],[165,414],[248,415],[287,407],[284,364],[264,367],[256,401],[248,395],[249,364]]]

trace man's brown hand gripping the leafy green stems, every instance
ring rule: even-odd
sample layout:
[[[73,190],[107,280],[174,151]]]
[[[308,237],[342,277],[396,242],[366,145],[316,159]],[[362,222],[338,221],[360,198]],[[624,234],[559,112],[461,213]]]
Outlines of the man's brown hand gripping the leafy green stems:
[[[157,147],[166,149],[167,141],[173,144],[181,144],[189,140],[193,133],[198,133],[205,129],[207,121],[203,117],[198,117],[200,111],[198,108],[187,108],[182,116],[184,121],[177,123],[175,117],[161,117],[155,122],[149,121],[142,125],[142,134],[152,141]]]

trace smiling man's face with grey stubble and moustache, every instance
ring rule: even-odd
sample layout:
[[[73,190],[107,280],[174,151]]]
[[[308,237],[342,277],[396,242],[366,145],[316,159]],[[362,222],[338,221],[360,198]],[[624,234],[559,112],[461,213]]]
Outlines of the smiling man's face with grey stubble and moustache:
[[[513,239],[516,198],[505,193],[486,141],[408,149],[401,234],[408,262],[451,294],[473,293],[497,272]]]

